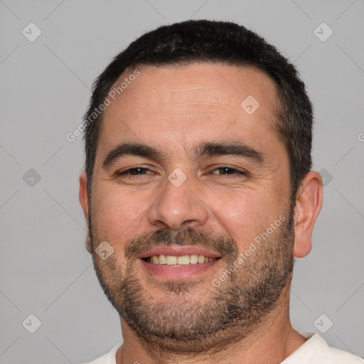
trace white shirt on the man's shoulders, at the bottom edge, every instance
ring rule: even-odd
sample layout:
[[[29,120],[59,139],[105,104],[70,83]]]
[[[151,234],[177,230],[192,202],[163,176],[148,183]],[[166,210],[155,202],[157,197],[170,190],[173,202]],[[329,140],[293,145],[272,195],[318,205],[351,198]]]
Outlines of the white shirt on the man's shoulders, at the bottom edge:
[[[363,364],[364,360],[346,351],[331,348],[317,333],[300,333],[308,339],[281,364]],[[109,353],[85,364],[117,364],[117,349],[122,343],[114,346]]]

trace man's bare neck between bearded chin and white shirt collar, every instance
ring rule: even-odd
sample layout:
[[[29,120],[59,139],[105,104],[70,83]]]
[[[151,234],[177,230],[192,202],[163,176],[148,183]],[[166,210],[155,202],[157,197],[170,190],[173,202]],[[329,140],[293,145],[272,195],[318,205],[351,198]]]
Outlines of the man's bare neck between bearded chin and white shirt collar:
[[[281,304],[248,336],[231,340],[230,333],[230,338],[224,341],[228,336],[227,333],[222,333],[220,345],[216,345],[213,350],[193,355],[166,353],[157,345],[149,346],[121,319],[124,344],[117,352],[117,364],[281,363],[305,342],[291,327],[288,296],[287,292],[282,292]]]

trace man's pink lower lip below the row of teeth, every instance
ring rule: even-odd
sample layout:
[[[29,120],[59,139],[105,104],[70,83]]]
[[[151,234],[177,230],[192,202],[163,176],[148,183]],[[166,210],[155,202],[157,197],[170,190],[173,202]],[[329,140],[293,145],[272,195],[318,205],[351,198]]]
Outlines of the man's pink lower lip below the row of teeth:
[[[154,264],[146,262],[143,259],[139,260],[149,274],[168,280],[196,277],[214,267],[221,259],[215,259],[212,262],[207,263],[188,264],[181,267],[171,267],[167,264]]]

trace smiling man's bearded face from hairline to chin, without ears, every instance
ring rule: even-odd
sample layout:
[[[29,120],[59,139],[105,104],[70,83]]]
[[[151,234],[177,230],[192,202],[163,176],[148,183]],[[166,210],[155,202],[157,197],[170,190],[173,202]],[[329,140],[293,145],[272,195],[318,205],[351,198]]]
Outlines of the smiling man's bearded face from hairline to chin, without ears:
[[[291,274],[289,158],[274,129],[276,89],[251,67],[138,69],[105,110],[97,146],[97,275],[124,321],[166,348],[213,343],[218,331],[247,335]],[[95,253],[102,241],[114,249],[105,260]]]

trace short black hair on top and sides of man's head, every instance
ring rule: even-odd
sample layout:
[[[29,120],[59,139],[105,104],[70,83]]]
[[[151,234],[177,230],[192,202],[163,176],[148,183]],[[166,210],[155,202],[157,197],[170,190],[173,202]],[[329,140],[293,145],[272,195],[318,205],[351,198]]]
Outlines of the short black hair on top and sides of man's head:
[[[138,65],[196,62],[251,65],[262,70],[278,91],[277,133],[290,163],[291,198],[311,169],[313,113],[304,82],[294,65],[261,36],[230,21],[190,20],[149,31],[119,53],[92,85],[84,116],[87,187],[90,191],[102,112],[95,113],[122,73]],[[93,117],[93,118],[92,118]]]

